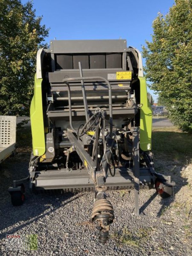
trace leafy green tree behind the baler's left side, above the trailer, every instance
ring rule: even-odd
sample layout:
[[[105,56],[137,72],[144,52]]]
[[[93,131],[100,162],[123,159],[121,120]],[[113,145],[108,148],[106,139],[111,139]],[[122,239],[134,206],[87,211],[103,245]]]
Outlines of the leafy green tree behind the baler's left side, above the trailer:
[[[33,3],[0,0],[0,115],[28,115],[33,94],[36,52],[48,29]]]

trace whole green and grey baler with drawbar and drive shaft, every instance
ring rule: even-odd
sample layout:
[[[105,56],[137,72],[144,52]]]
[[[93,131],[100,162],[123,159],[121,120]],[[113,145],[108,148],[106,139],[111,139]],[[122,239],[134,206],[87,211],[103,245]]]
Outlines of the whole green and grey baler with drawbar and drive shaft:
[[[84,58],[82,54],[88,55]],[[71,56],[74,60],[72,69]],[[43,64],[45,57],[47,61],[51,57],[47,71]],[[78,59],[82,59],[84,71]],[[114,63],[120,63],[120,66],[114,68]],[[61,70],[56,68],[60,65]],[[86,65],[90,69],[85,68]],[[91,92],[94,86],[96,96]],[[71,88],[75,88],[73,95]],[[77,94],[75,90],[78,90]],[[88,96],[86,92],[89,92]],[[120,95],[118,92],[121,92]],[[83,101],[83,105],[79,105],[80,101]],[[96,103],[90,104],[90,101]],[[82,128],[78,122],[84,122],[84,119]],[[76,120],[75,126],[73,120]],[[134,216],[142,215],[139,208],[140,187],[156,188],[162,197],[172,193],[170,188],[175,183],[171,181],[171,176],[154,170],[150,152],[152,113],[147,100],[141,54],[137,49],[127,48],[126,40],[51,41],[50,50],[39,50],[31,124],[33,152],[29,164],[30,188],[72,191],[93,188],[95,203],[92,220],[98,222],[102,243],[107,241],[109,227],[114,220],[113,206],[105,194],[107,189],[134,187]],[[118,143],[121,145],[118,146]],[[122,161],[119,160],[119,150]],[[123,151],[129,155],[124,155]],[[76,154],[73,160],[75,167],[68,167],[69,156],[73,153]],[[12,193],[19,182],[14,181],[14,188],[9,189]],[[21,196],[22,189],[23,186],[20,186],[20,190],[18,188]]]

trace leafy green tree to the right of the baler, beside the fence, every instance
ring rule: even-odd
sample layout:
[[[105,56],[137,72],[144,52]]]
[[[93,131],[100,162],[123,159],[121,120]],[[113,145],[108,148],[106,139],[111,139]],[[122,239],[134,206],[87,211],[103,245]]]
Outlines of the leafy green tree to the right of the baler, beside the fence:
[[[169,13],[153,21],[146,41],[146,77],[151,89],[169,103],[170,118],[183,131],[192,130],[192,0],[175,0]]]

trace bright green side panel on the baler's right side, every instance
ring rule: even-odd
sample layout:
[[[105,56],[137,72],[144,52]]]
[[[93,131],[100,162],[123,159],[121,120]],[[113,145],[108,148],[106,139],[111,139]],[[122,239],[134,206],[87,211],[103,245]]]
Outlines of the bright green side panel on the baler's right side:
[[[145,77],[140,80],[140,148],[144,151],[151,149],[152,109],[147,97]]]

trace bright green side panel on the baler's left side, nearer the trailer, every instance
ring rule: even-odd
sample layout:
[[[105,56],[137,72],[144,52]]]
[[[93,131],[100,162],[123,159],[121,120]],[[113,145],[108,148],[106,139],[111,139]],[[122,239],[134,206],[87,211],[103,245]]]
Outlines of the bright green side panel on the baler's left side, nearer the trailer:
[[[34,95],[30,106],[31,132],[34,156],[42,156],[45,153],[43,104],[41,91],[42,80],[43,79],[37,79],[35,75]]]

